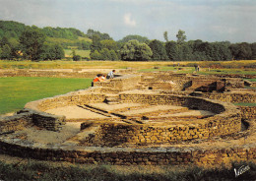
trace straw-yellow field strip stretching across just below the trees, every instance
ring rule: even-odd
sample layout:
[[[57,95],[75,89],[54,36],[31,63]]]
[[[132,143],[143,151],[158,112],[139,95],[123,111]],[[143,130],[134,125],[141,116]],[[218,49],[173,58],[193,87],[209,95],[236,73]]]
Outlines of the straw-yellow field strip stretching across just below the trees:
[[[66,54],[71,54],[72,50],[66,50]],[[77,50],[77,54],[82,57],[89,57],[90,50]],[[179,67],[178,67],[179,64]],[[141,72],[153,71],[176,71],[178,73],[192,73],[194,64],[200,65],[200,74],[256,74],[256,60],[224,61],[224,62],[173,62],[173,61],[4,61],[0,60],[0,69],[127,69],[133,68]],[[220,68],[217,68],[219,66]],[[230,67],[230,68],[222,68]],[[252,68],[237,68],[237,67]],[[209,69],[209,67],[215,67]],[[255,67],[255,68],[254,68]]]

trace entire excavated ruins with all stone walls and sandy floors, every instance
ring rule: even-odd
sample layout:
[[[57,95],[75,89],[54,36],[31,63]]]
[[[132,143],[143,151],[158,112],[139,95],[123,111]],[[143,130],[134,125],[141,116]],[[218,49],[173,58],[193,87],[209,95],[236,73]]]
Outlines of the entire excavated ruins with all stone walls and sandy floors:
[[[92,78],[96,72],[0,73],[45,75]],[[28,102],[0,117],[0,152],[93,164],[256,162],[256,107],[235,105],[256,102],[255,83],[243,78],[118,70],[89,89]]]

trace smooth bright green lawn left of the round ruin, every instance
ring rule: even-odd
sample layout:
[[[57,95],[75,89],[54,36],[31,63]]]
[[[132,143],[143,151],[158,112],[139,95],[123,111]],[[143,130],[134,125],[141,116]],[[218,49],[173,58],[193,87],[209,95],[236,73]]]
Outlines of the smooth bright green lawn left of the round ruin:
[[[27,102],[87,89],[91,79],[0,78],[0,114],[20,110]]]

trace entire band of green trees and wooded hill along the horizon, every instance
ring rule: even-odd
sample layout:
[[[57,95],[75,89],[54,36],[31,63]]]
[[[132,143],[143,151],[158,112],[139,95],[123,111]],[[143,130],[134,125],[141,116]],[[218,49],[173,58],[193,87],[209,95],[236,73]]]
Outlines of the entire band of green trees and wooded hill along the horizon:
[[[92,42],[79,40],[88,37]],[[52,38],[65,38],[66,42],[49,41]],[[76,29],[39,29],[12,21],[0,21],[0,58],[56,60],[64,58],[64,49],[76,46],[77,49],[90,49],[92,60],[124,61],[224,61],[256,59],[255,43],[207,42],[201,39],[186,41],[184,30],[178,30],[175,40],[150,40],[146,36],[130,34],[115,41],[108,33],[89,29],[84,33]],[[75,56],[75,53],[74,53]],[[76,59],[81,57],[76,55]]]

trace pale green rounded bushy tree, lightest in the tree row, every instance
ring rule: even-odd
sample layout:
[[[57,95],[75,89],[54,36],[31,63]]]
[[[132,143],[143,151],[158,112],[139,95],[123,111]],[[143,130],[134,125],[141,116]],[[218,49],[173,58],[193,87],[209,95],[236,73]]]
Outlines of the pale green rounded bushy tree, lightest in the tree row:
[[[120,49],[122,60],[145,61],[152,56],[152,50],[146,43],[130,40]]]

